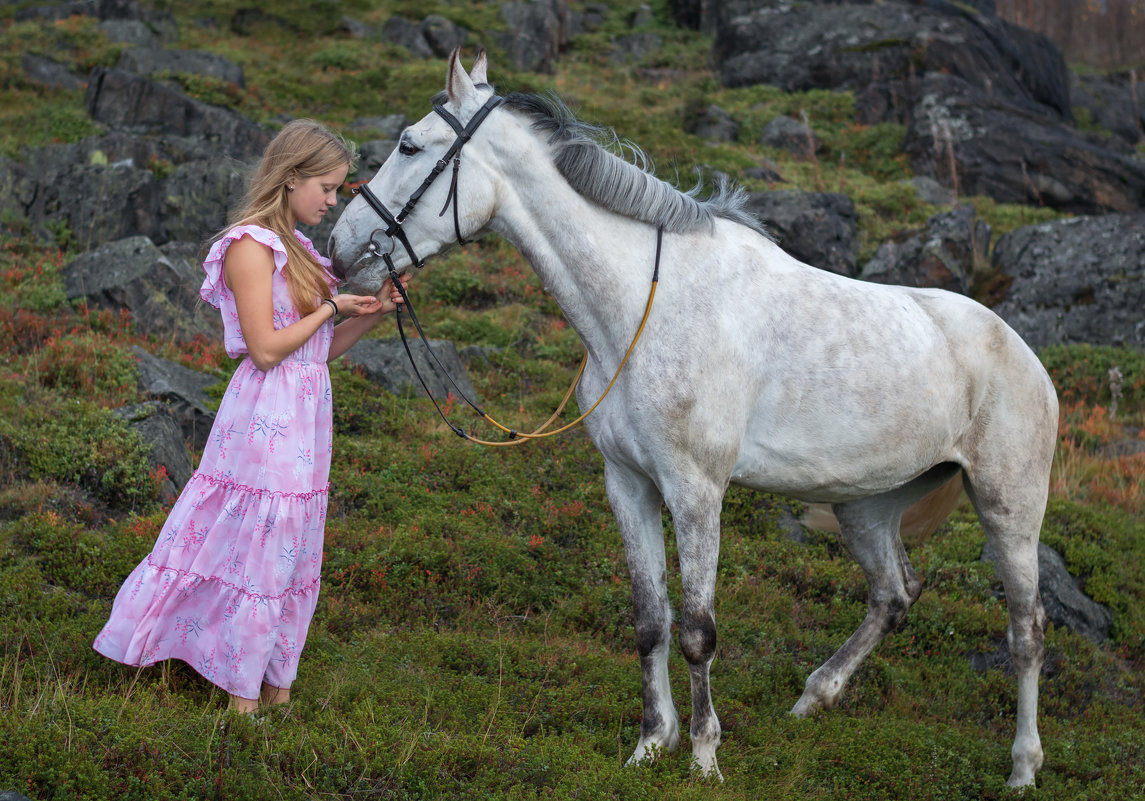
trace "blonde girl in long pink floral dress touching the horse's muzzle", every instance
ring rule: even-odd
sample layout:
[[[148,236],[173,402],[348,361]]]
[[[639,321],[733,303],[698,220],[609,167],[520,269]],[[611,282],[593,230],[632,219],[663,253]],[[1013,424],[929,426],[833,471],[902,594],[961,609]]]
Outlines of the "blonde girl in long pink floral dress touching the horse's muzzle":
[[[127,577],[95,650],[127,665],[182,659],[253,712],[290,698],[318,595],[332,438],[330,373],[401,302],[338,295],[317,224],[354,165],[346,142],[295,120],[267,146],[199,295],[245,356],[198,470]],[[337,327],[333,318],[347,317]]]

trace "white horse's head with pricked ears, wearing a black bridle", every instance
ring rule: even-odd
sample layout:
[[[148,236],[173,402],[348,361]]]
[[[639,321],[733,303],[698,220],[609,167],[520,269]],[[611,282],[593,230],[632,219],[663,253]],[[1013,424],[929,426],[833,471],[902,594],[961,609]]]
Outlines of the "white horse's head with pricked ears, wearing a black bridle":
[[[402,132],[397,148],[334,225],[327,249],[339,278],[377,292],[390,264],[406,272],[487,232],[496,182],[477,148],[466,146],[471,136],[496,136],[485,127],[477,132],[499,102],[485,72],[484,51],[466,73],[453,50],[434,110]]]

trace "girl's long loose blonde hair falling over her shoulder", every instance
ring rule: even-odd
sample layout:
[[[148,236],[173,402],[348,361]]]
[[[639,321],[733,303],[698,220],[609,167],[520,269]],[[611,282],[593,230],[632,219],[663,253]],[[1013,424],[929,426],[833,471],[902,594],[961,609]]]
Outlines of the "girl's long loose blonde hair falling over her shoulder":
[[[287,184],[325,175],[342,165],[353,170],[356,160],[353,146],[318,122],[307,119],[287,122],[267,145],[227,229],[215,235],[212,243],[236,225],[254,224],[273,230],[286,248],[283,275],[294,306],[302,316],[313,312],[322,299],[331,296],[329,273],[294,237]]]

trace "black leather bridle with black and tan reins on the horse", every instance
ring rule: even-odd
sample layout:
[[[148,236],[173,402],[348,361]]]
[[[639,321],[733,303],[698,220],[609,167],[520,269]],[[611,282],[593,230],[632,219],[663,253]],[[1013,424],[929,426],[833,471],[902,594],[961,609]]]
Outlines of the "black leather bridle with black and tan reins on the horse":
[[[418,201],[421,199],[421,196],[425,193],[425,191],[429,189],[433,182],[437,180],[437,176],[445,170],[445,167],[449,166],[450,160],[453,161],[453,179],[450,182],[449,192],[445,196],[445,205],[441,207],[441,211],[437,213],[437,216],[443,216],[445,212],[449,209],[450,204],[452,204],[453,233],[457,237],[457,244],[465,245],[468,243],[468,240],[461,236],[461,224],[460,224],[458,203],[457,203],[457,176],[461,168],[461,148],[464,148],[465,143],[473,137],[473,134],[476,133],[477,128],[481,126],[482,122],[484,122],[489,113],[498,105],[500,105],[503,102],[504,102],[503,97],[493,95],[488,101],[485,101],[480,109],[477,109],[477,112],[469,119],[468,124],[464,126],[461,125],[460,120],[453,117],[453,114],[449,113],[449,111],[447,111],[445,108],[442,106],[440,103],[434,104],[433,110],[437,112],[437,114],[442,119],[449,122],[449,126],[455,130],[455,133],[457,133],[457,138],[453,140],[453,143],[449,146],[449,150],[447,150],[445,153],[440,159],[437,159],[437,162],[433,166],[433,169],[429,170],[429,175],[427,175],[425,181],[421,182],[421,185],[413,191],[413,195],[410,196],[410,199],[405,201],[404,206],[402,206],[402,211],[400,211],[396,215],[392,214],[390,211],[386,208],[386,205],[378,198],[377,195],[373,193],[373,191],[371,191],[369,184],[363,183],[354,190],[355,195],[361,196],[370,206],[370,208],[372,208],[373,212],[379,217],[381,217],[382,222],[386,223],[385,229],[377,228],[370,233],[370,241],[366,244],[365,249],[368,253],[372,254],[376,257],[380,257],[386,263],[386,268],[389,270],[390,283],[395,287],[397,287],[397,291],[402,295],[403,302],[397,306],[394,315],[397,320],[397,331],[402,338],[402,346],[405,348],[405,355],[410,360],[410,366],[413,368],[413,374],[418,376],[418,381],[421,383],[421,388],[425,390],[426,396],[433,402],[434,407],[437,410],[437,414],[441,415],[441,419],[445,421],[445,425],[449,426],[449,428],[453,431],[453,434],[458,435],[463,439],[468,439],[469,442],[476,443],[479,445],[493,445],[493,446],[520,445],[521,443],[528,442],[530,439],[540,439],[544,437],[551,437],[555,434],[560,434],[561,431],[566,431],[576,426],[582,420],[584,420],[586,417],[589,417],[589,414],[591,414],[592,411],[597,409],[597,406],[599,406],[601,402],[603,402],[605,397],[613,389],[613,384],[615,384],[616,380],[621,376],[621,370],[623,370],[625,363],[627,363],[629,356],[632,354],[632,349],[635,348],[637,342],[640,339],[640,334],[643,333],[645,324],[648,322],[648,316],[652,314],[652,301],[656,296],[656,285],[660,281],[660,254],[661,254],[661,246],[664,240],[663,227],[657,228],[656,262],[655,262],[655,269],[653,270],[652,290],[648,293],[648,302],[645,304],[643,317],[640,319],[640,326],[637,328],[635,336],[632,338],[632,343],[629,346],[629,349],[624,352],[624,358],[621,359],[621,364],[616,367],[616,373],[613,375],[611,381],[608,382],[608,387],[605,388],[603,394],[601,394],[601,396],[597,398],[597,403],[592,404],[592,406],[590,406],[586,412],[581,414],[581,417],[578,417],[572,422],[561,426],[558,429],[554,429],[552,431],[545,430],[548,428],[548,426],[552,425],[554,420],[556,420],[560,413],[564,410],[564,406],[566,404],[568,404],[569,398],[572,397],[572,391],[581,382],[581,376],[584,375],[584,368],[589,363],[587,350],[585,351],[584,357],[581,359],[581,366],[577,368],[576,378],[572,379],[572,386],[570,386],[568,391],[564,394],[564,397],[561,399],[560,405],[558,405],[556,411],[553,412],[552,417],[550,417],[548,420],[546,420],[538,429],[536,429],[531,434],[523,434],[521,431],[516,431],[515,429],[503,426],[502,423],[497,422],[491,417],[489,417],[484,412],[484,410],[480,409],[475,403],[473,403],[465,395],[461,388],[457,386],[457,382],[453,380],[453,376],[449,374],[449,371],[445,370],[445,366],[437,358],[437,355],[433,351],[433,348],[429,347],[429,340],[426,336],[425,331],[423,331],[421,328],[421,323],[418,320],[418,316],[413,311],[413,306],[410,303],[410,296],[406,294],[405,286],[400,280],[397,270],[394,267],[394,260],[392,257],[392,254],[394,252],[394,248],[397,246],[397,243],[401,243],[402,247],[404,247],[405,252],[409,254],[410,262],[413,264],[413,267],[418,269],[425,267],[425,260],[419,259],[418,254],[413,251],[413,246],[410,244],[409,238],[405,236],[405,230],[402,228],[402,223],[413,211],[414,206],[417,206]],[[389,237],[388,249],[382,249],[382,246],[379,245],[378,241],[376,241],[374,237],[379,232]],[[510,436],[507,441],[490,442],[485,439],[477,439],[476,437],[471,436],[464,428],[460,428],[459,426],[456,426],[449,421],[449,418],[445,417],[445,412],[442,411],[441,405],[437,403],[437,398],[435,398],[433,392],[429,391],[429,387],[426,383],[426,380],[421,376],[421,371],[418,370],[417,363],[413,360],[413,354],[410,350],[410,343],[405,336],[405,328],[402,325],[403,307],[409,312],[410,319],[413,320],[413,325],[418,330],[418,335],[421,338],[421,341],[426,347],[426,352],[429,355],[431,368],[435,373],[439,373],[439,378],[443,375],[445,379],[448,379],[450,386],[452,386],[453,390],[457,392],[457,397],[459,397],[461,400],[465,402],[466,405],[473,409],[473,411],[476,412],[479,417],[481,417],[485,422],[490,423],[491,426],[499,428],[502,431],[506,433]]]

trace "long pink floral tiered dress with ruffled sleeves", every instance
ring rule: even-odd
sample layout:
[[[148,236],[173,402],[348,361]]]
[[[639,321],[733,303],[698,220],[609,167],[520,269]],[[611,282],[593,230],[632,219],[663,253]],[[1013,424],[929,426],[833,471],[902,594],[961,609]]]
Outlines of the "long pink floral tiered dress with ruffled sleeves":
[[[199,295],[222,312],[227,352],[235,358],[247,349],[223,256],[244,236],[274,252],[275,328],[299,319],[278,235],[256,225],[232,229],[203,263],[207,276]],[[294,236],[330,265],[309,239]],[[119,589],[96,651],[127,665],[182,659],[243,698],[258,698],[263,681],[291,685],[318,597],[332,339],[333,324],[326,323],[267,372],[243,359],[198,469],[155,548]]]

